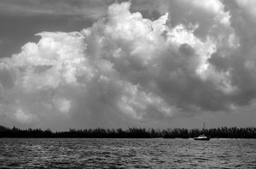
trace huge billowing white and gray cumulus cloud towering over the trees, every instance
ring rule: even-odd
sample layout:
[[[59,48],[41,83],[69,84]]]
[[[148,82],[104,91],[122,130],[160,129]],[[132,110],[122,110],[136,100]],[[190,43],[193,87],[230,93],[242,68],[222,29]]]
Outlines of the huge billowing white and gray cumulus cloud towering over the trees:
[[[113,3],[90,28],[38,33],[39,42],[1,59],[0,121],[128,127],[253,102],[251,4],[149,4],[158,19],[131,13],[129,2]]]

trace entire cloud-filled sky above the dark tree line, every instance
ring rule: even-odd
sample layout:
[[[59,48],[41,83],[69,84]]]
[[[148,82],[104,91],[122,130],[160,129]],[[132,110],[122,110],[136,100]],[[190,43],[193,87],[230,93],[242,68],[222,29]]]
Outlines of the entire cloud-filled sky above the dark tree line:
[[[255,127],[253,0],[2,0],[0,125]]]

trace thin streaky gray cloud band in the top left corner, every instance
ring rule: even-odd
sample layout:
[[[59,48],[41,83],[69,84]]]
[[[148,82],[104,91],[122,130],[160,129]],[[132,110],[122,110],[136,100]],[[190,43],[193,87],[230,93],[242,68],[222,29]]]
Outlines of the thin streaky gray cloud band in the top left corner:
[[[107,1],[81,0],[3,0],[0,13],[13,15],[78,15],[84,18],[99,18],[106,14]]]

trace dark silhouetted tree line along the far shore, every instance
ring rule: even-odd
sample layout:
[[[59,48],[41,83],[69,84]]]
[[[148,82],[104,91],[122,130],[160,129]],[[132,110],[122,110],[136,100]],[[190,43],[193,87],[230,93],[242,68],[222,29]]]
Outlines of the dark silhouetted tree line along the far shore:
[[[52,132],[17,127],[0,126],[0,138],[195,138],[201,134],[210,138],[256,138],[256,127],[218,127],[210,129],[154,128],[129,127],[126,130],[118,129],[69,129],[67,132]]]

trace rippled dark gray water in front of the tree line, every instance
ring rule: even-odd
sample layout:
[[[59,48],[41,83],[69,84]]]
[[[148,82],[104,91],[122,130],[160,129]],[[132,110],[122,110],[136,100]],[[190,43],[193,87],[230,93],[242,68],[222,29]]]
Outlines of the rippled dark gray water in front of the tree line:
[[[1,138],[0,168],[256,168],[256,139]]]

